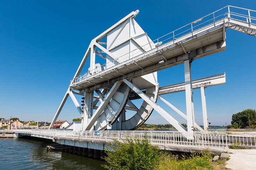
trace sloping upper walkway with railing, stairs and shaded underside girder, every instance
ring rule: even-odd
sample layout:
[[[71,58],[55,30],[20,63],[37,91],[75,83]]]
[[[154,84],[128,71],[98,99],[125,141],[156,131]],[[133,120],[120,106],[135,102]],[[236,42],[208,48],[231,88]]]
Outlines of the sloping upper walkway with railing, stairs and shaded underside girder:
[[[234,11],[230,11],[232,10]],[[235,9],[249,15],[236,13]],[[251,12],[251,15],[250,15]],[[132,58],[119,58],[110,61],[110,67],[103,71],[87,72],[71,81],[75,90],[95,90],[122,79],[133,79],[161,69],[182,64],[187,59],[198,59],[225,50],[225,29],[234,29],[256,36],[256,17],[254,10],[227,6],[201,19],[187,24],[153,41],[153,49],[140,47],[143,53],[129,53]],[[210,17],[213,16],[213,17]],[[202,22],[201,22],[202,21]],[[152,42],[150,42],[152,43]],[[160,63],[160,55],[165,62]],[[122,58],[122,60],[121,60]]]

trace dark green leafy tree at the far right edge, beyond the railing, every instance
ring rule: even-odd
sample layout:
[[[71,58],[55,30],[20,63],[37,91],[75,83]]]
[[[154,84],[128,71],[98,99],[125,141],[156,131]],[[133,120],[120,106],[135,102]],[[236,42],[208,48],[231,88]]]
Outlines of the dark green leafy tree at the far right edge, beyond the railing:
[[[250,120],[250,122],[249,122]],[[246,109],[236,114],[233,114],[231,124],[233,127],[249,128],[256,126],[256,111],[255,109]],[[237,124],[237,125],[236,125]]]

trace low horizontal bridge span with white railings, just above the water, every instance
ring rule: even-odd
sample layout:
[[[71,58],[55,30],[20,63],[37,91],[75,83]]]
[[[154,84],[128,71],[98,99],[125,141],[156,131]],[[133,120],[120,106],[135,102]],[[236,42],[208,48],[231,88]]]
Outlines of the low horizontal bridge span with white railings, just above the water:
[[[34,136],[51,139],[63,146],[73,146],[103,150],[109,148],[113,140],[123,142],[125,139],[147,139],[151,145],[162,150],[196,152],[203,149],[212,152],[228,151],[231,145],[255,148],[256,130],[252,132],[178,132],[170,131],[70,131],[59,129],[18,129],[13,131],[16,136]]]

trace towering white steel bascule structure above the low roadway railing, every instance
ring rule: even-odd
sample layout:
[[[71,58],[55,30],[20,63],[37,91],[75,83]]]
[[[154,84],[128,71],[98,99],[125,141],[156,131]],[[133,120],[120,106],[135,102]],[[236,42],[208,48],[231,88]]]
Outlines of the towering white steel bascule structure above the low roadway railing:
[[[70,96],[82,118],[81,124],[76,126],[78,128],[74,124],[69,126],[74,131],[99,131],[110,125],[112,130],[135,130],[153,110],[180,132],[191,132],[194,127],[208,131],[204,89],[224,84],[225,73],[192,80],[191,63],[224,51],[227,28],[256,36],[256,11],[226,6],[156,40],[151,40],[135,21],[137,14],[139,10],[128,14],[91,41],[50,128]],[[88,72],[82,73],[86,61],[90,62],[90,67]],[[179,64],[184,64],[185,81],[161,87],[157,71]],[[204,129],[196,124],[194,118],[195,88],[201,88]],[[186,91],[186,113],[162,96],[179,91]],[[75,95],[79,95],[82,101],[78,101]],[[137,107],[136,99],[141,98],[143,102]],[[157,99],[186,119],[187,128],[161,108]]]

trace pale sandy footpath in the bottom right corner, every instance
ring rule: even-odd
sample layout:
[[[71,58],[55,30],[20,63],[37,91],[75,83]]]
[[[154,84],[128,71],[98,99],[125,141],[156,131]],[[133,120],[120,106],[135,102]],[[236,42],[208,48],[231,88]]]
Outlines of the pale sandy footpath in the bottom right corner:
[[[255,170],[256,169],[256,149],[229,149],[230,160],[226,167],[233,170]]]

